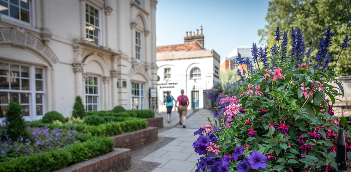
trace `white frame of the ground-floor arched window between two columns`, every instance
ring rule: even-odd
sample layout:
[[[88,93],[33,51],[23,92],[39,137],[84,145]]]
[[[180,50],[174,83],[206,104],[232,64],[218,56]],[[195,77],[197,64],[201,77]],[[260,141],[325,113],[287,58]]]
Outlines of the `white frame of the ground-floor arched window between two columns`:
[[[94,80],[94,78],[97,78],[97,82],[98,82],[97,85],[89,84],[89,77],[92,77],[92,80]],[[89,92],[89,86],[93,87],[93,93],[87,93],[87,91]],[[97,87],[96,90],[98,91],[98,94],[95,94],[94,87]],[[92,106],[91,111],[100,111],[100,78],[98,76],[88,75],[86,80],[85,80],[84,90],[85,90],[85,111],[89,112],[89,108],[88,108],[89,105]],[[89,103],[88,96],[91,96],[92,103]],[[94,97],[96,97],[97,102],[94,102]],[[96,107],[97,107],[96,110],[94,108],[94,105],[96,105]]]

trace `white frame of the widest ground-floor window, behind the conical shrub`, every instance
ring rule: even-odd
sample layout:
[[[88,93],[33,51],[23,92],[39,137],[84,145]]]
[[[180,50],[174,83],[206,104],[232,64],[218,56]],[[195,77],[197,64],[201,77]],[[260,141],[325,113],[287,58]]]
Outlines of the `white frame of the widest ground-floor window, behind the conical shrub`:
[[[8,72],[8,75],[0,75],[0,77],[9,77],[9,89],[0,89],[0,92],[6,92],[7,93],[7,99],[8,102],[10,100],[10,93],[19,93],[18,95],[18,99],[19,102],[21,104],[21,106],[28,106],[29,105],[29,115],[28,116],[24,116],[24,118],[26,120],[35,120],[37,119],[37,116],[39,116],[40,118],[42,117],[42,115],[44,115],[46,113],[46,94],[45,94],[45,90],[46,90],[46,75],[45,75],[45,68],[41,67],[41,66],[36,66],[36,65],[30,65],[30,64],[23,64],[23,63],[18,63],[18,62],[12,62],[12,61],[5,61],[5,60],[0,60],[1,63],[6,63],[8,64],[9,70],[11,70],[11,65],[19,65],[19,73],[20,76],[19,77],[14,77],[11,76],[11,73]],[[25,66],[25,67],[29,67],[29,78],[27,77],[22,77],[21,74],[21,66]],[[35,78],[35,69],[36,68],[40,68],[42,70],[42,79],[36,79]],[[20,85],[20,90],[11,90],[11,80],[10,78],[16,78],[19,79],[19,85]],[[29,79],[29,90],[22,90],[22,79]],[[36,81],[40,80],[42,81],[42,91],[36,91]],[[21,103],[21,93],[27,93],[28,94],[28,103]],[[36,94],[41,94],[41,103],[37,104],[36,102]],[[37,114],[37,105],[41,105],[41,111],[42,114],[38,115]],[[0,106],[8,106],[7,104],[0,104]],[[5,115],[5,114],[4,114]],[[1,117],[4,118],[4,117]],[[0,119],[1,119],[0,118]]]

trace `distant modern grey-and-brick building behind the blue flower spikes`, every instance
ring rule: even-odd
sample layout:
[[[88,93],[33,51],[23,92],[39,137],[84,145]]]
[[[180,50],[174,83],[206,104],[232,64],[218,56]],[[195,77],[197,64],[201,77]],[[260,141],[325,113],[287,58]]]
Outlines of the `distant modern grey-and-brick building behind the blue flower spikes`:
[[[234,50],[227,55],[225,59],[221,61],[220,65],[220,73],[224,73],[225,70],[230,69],[230,70],[247,70],[246,69],[246,64],[237,65],[237,56],[238,53],[240,53],[241,57],[244,59],[249,58],[252,60],[252,55],[251,55],[251,47],[250,46],[239,46],[234,48]],[[230,66],[231,65],[231,66]]]

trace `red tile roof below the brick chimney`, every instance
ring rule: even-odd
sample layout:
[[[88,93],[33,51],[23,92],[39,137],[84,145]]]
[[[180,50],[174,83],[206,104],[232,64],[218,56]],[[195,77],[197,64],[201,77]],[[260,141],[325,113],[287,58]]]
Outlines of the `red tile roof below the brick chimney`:
[[[188,42],[185,44],[178,45],[165,45],[156,47],[156,52],[172,52],[172,51],[196,51],[204,49],[198,42]]]

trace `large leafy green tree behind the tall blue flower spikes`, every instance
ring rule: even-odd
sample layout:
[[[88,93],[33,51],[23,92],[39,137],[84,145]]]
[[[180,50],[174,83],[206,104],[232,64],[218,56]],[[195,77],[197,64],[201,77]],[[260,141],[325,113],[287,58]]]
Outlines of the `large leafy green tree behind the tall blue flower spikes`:
[[[312,59],[316,56],[319,49],[317,44],[325,33],[323,28],[328,25],[335,27],[332,30],[335,33],[332,37],[333,44],[329,49],[329,55],[335,55],[329,64],[331,70],[341,50],[338,45],[342,44],[346,34],[351,34],[351,0],[273,0],[269,2],[266,21],[268,24],[264,29],[258,30],[260,43],[266,43],[269,47],[277,43],[274,41],[273,32],[276,27],[288,33],[292,26],[300,27],[306,45],[308,46],[310,39],[313,40]],[[291,49],[291,43],[288,50]],[[351,49],[344,48],[342,54],[334,73],[338,76],[351,75]]]

